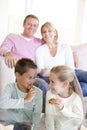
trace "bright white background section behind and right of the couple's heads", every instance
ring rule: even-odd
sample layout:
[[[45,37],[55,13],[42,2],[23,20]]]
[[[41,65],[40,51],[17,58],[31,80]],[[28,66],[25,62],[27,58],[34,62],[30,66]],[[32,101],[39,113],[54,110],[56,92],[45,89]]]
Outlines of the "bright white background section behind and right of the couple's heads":
[[[53,22],[59,32],[59,41],[75,43],[75,25],[78,0],[33,0],[31,12],[40,19],[40,25]]]

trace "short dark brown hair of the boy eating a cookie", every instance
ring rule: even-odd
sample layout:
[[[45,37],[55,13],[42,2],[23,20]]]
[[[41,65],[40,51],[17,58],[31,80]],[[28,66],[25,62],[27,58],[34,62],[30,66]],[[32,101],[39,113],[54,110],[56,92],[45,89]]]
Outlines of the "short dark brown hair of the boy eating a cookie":
[[[15,65],[15,73],[18,72],[20,75],[26,73],[29,69],[37,69],[37,65],[28,58],[20,59]]]

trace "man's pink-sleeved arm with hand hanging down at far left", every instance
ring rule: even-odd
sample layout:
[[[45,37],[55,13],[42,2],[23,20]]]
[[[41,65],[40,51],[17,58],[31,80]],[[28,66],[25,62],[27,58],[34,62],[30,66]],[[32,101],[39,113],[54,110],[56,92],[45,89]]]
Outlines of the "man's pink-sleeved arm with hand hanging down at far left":
[[[13,35],[9,34],[0,46],[0,56],[5,57],[5,63],[10,68],[13,68],[18,60],[12,53],[12,48],[14,47],[12,38]]]

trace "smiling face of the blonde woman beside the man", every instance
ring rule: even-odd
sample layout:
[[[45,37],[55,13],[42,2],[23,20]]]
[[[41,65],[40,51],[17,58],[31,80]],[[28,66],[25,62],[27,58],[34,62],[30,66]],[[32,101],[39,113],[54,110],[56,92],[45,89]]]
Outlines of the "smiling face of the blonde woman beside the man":
[[[54,38],[56,36],[56,31],[53,30],[52,28],[48,28],[44,26],[42,28],[42,38],[46,43],[54,42]]]

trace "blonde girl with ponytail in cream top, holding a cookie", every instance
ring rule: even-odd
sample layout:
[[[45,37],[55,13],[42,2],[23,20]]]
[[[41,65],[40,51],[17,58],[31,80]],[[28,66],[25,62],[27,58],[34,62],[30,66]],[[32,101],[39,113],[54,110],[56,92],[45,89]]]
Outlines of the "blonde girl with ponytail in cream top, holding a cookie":
[[[56,66],[50,72],[46,96],[47,130],[78,130],[84,117],[81,87],[73,69]]]

